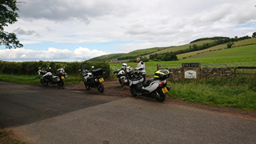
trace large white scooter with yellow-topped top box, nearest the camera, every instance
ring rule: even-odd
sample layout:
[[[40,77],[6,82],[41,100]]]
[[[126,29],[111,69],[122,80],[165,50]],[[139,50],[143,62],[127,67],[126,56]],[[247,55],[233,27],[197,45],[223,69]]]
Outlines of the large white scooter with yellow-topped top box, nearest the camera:
[[[133,70],[130,69],[126,71],[130,72]],[[158,102],[163,102],[166,99],[167,92],[170,90],[170,86],[167,86],[166,80],[166,78],[169,77],[169,70],[157,70],[154,72],[154,78],[150,78],[148,81],[143,82],[144,78],[142,74],[134,72],[129,78],[130,94],[137,98],[145,96],[154,98]]]

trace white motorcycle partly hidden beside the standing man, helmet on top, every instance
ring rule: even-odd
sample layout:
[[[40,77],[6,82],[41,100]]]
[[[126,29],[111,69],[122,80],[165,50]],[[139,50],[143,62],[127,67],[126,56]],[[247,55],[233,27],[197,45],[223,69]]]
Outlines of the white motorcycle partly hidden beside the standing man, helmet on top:
[[[114,74],[117,76],[118,78],[118,82],[120,83],[120,85],[123,86],[129,86],[129,81],[127,78],[127,73],[126,73],[126,67],[127,64],[126,63],[122,63],[122,69],[118,69],[118,70],[114,70]]]

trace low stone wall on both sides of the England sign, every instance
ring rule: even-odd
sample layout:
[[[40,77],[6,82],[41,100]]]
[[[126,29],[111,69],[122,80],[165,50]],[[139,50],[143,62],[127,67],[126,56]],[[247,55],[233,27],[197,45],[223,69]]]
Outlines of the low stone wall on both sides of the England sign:
[[[167,68],[160,68],[167,69]],[[170,80],[178,81],[180,78],[184,78],[184,68],[168,68],[170,71]],[[225,78],[232,76],[232,71],[230,67],[212,68],[203,67],[199,72],[199,79],[206,78]]]

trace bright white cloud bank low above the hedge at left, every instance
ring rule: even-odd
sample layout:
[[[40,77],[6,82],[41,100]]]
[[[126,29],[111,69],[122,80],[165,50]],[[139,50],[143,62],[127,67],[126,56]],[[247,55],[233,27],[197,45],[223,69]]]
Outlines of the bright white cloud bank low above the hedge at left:
[[[99,50],[89,50],[79,47],[74,51],[57,49],[54,47],[48,50],[26,50],[26,49],[6,49],[0,50],[0,60],[3,61],[78,61],[94,58],[108,54]]]

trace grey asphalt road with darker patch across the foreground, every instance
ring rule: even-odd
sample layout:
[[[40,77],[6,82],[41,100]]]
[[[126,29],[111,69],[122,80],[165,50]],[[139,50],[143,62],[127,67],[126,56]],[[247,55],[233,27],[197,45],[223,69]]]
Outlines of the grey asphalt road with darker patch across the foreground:
[[[256,119],[146,98],[0,82],[0,127],[33,143],[256,143]]]

